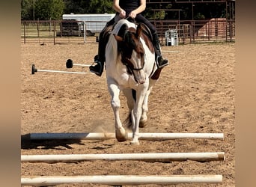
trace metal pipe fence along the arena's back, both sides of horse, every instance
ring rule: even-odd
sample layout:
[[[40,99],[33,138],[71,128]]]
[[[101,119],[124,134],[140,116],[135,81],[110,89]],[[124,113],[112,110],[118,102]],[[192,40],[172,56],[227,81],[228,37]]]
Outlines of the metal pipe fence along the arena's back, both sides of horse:
[[[177,30],[178,43],[231,42],[235,40],[235,21],[221,19],[210,20],[151,20],[156,25],[160,41],[166,45],[165,32]],[[62,20],[22,21],[22,43],[88,43],[97,42],[99,33],[87,29],[87,25],[98,22],[79,22]]]

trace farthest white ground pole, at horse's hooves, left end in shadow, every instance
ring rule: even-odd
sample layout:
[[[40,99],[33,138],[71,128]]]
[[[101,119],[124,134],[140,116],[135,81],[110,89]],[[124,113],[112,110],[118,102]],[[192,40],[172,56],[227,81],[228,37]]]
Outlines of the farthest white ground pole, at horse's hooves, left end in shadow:
[[[132,139],[132,133],[127,133],[128,139]],[[104,140],[115,138],[112,132],[87,132],[87,133],[30,133],[29,140],[56,140],[56,139],[80,139],[80,140]],[[224,140],[223,133],[140,133],[140,140],[172,140],[179,138],[203,138]]]

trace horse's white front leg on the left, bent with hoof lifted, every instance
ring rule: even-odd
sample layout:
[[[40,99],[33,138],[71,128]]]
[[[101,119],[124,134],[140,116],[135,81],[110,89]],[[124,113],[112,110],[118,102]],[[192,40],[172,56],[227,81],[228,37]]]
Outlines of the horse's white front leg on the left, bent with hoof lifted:
[[[121,102],[119,99],[120,89],[118,88],[118,85],[110,84],[109,93],[112,96],[111,105],[112,105],[114,118],[115,118],[115,138],[117,138],[118,141],[126,141],[128,135],[125,132],[124,127],[122,126],[120,115],[119,115]]]

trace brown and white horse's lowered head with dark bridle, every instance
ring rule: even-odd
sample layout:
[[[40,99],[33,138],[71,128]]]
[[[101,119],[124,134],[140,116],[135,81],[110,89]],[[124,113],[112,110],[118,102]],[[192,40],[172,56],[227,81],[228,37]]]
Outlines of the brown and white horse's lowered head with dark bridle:
[[[118,35],[114,34],[118,42],[118,52],[121,61],[127,67],[127,72],[134,76],[135,82],[143,84],[146,76],[144,73],[144,46],[141,43],[142,28],[122,25]]]

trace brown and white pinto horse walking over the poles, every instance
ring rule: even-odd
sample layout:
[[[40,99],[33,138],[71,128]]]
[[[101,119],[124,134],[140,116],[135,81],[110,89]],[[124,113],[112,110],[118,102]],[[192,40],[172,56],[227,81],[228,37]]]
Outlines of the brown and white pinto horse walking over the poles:
[[[119,94],[123,91],[129,108],[132,127],[131,144],[139,144],[138,128],[147,121],[147,101],[152,86],[159,79],[162,69],[155,62],[153,44],[144,24],[121,19],[109,35],[106,45],[106,79],[115,117],[115,137],[127,140],[121,123]]]

